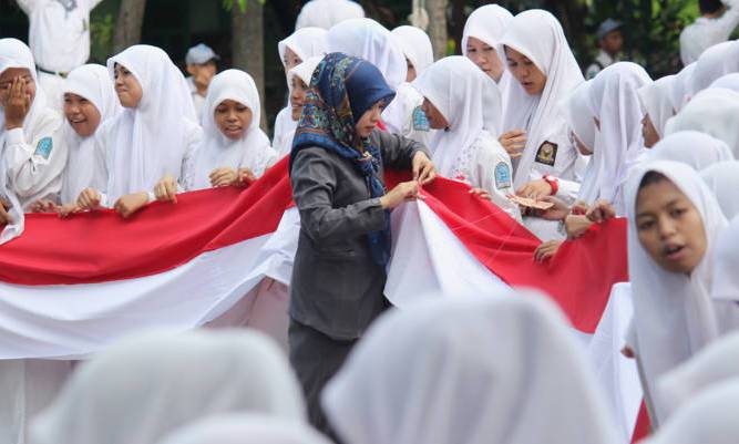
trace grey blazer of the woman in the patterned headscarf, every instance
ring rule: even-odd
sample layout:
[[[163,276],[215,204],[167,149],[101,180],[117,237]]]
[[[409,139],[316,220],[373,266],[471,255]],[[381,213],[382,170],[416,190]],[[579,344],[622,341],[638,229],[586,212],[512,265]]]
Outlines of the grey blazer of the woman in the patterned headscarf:
[[[383,167],[410,169],[425,147],[376,130]],[[290,281],[290,317],[333,339],[359,338],[387,307],[383,267],[372,260],[367,234],[384,229],[379,198],[370,198],[351,161],[321,147],[300,149],[290,172],[300,235]]]

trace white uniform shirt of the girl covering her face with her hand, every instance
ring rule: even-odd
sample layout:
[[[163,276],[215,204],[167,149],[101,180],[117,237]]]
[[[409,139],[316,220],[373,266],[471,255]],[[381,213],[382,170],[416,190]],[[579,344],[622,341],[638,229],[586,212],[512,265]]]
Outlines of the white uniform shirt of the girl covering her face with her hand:
[[[38,199],[59,203],[68,156],[61,128],[62,116],[47,109],[22,128],[6,133],[8,185],[24,210]]]

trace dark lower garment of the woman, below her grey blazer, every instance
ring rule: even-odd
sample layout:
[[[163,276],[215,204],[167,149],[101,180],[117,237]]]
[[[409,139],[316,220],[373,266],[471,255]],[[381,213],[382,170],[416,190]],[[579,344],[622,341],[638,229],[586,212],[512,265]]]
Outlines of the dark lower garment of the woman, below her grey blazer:
[[[338,442],[320,406],[320,393],[339,371],[357,341],[332,339],[290,319],[288,342],[290,363],[298,374],[308,404],[308,420],[314,427]]]

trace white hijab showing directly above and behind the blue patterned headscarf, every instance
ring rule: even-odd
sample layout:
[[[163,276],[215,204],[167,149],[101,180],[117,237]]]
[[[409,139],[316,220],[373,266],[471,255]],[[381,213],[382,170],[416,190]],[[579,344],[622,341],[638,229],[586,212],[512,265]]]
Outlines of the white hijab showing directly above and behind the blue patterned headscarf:
[[[328,31],[328,49],[372,63],[393,91],[406,82],[406,55],[390,31],[374,20],[351,19],[335,25]],[[402,99],[396,97],[382,112],[382,121],[389,132],[400,134],[411,118],[407,114]]]

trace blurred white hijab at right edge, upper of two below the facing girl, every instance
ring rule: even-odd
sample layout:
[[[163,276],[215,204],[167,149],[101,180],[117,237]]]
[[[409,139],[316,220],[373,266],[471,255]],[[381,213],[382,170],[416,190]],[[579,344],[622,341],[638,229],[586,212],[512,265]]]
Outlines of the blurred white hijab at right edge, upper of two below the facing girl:
[[[657,381],[657,396],[677,411],[708,386],[739,379],[739,333],[720,338]]]

